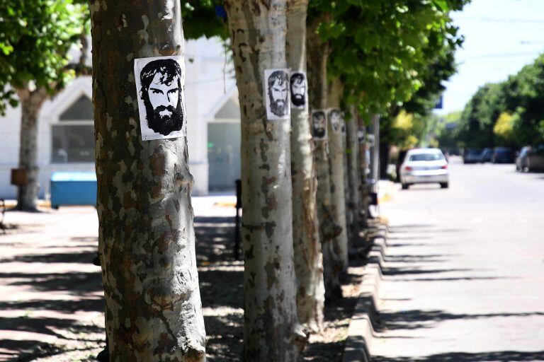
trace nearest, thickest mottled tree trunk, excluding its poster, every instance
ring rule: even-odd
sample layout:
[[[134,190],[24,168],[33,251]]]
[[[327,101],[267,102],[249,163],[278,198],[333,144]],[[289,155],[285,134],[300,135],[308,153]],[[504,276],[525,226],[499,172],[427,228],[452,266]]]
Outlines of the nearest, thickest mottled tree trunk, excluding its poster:
[[[187,139],[142,141],[133,73],[135,58],[183,54],[180,4],[90,8],[110,360],[205,361]]]

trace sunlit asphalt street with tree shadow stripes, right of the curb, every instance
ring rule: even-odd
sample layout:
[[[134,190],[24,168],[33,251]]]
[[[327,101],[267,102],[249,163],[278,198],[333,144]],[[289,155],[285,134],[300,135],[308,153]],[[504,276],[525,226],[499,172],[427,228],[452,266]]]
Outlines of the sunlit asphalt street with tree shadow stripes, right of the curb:
[[[544,174],[454,160],[381,212],[375,361],[544,361]]]

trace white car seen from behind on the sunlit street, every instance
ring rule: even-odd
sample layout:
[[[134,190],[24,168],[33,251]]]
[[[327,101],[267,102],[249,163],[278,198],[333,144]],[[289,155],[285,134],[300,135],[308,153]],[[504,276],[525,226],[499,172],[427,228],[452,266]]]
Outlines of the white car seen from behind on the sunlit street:
[[[438,183],[449,185],[448,161],[438,148],[414,148],[406,153],[400,165],[402,189],[414,184]]]

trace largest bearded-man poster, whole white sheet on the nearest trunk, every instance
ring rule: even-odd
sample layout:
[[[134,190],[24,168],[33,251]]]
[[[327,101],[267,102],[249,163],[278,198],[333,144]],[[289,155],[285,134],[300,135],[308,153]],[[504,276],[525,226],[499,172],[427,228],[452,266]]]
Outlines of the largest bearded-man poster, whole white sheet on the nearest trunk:
[[[134,61],[142,140],[186,135],[183,55]]]

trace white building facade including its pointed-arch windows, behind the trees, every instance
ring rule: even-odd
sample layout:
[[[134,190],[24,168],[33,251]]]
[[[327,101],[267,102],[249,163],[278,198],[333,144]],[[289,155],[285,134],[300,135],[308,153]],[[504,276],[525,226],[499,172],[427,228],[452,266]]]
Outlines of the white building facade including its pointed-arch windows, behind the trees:
[[[186,108],[193,194],[234,188],[240,170],[238,93],[220,40],[186,42]],[[47,100],[38,117],[40,198],[47,199],[57,171],[94,172],[94,120],[90,77],[77,78]],[[11,169],[18,166],[21,108],[0,117],[0,198],[16,199]]]

